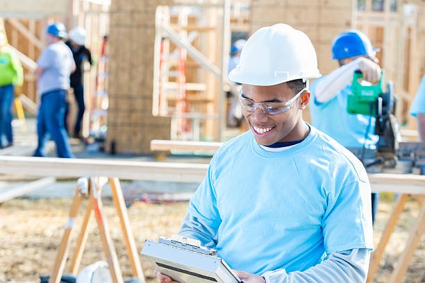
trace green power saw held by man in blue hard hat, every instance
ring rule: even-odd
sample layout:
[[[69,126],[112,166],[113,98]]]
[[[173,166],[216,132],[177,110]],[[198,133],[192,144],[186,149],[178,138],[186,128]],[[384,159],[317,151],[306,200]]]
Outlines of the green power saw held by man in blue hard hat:
[[[362,78],[363,74],[359,70],[354,72],[352,94],[347,98],[347,112],[375,117],[374,133],[379,136],[379,141],[376,144],[374,160],[365,166],[381,164],[385,168],[394,168],[399,148],[399,126],[394,115],[397,103],[394,84],[391,81],[388,82],[386,92],[383,92],[383,71],[376,85],[365,84]],[[364,162],[365,150],[365,148],[361,150],[362,162]]]

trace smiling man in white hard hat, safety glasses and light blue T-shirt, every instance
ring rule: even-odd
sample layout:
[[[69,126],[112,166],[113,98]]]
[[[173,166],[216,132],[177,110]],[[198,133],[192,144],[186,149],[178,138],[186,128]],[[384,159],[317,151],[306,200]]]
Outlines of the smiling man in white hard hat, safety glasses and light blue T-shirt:
[[[178,234],[217,250],[242,282],[366,280],[373,246],[367,173],[302,119],[308,80],[319,76],[313,44],[286,24],[256,31],[228,76],[242,83],[251,130],[215,153]]]

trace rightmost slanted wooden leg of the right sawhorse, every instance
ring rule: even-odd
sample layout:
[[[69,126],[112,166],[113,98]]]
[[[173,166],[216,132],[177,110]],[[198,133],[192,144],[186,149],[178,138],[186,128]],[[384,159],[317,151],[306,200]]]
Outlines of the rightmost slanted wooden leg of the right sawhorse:
[[[410,232],[410,237],[406,243],[406,248],[403,251],[403,254],[399,257],[397,264],[394,266],[394,271],[392,272],[390,283],[398,283],[403,281],[403,277],[406,274],[408,266],[413,256],[413,252],[419,243],[422,233],[425,230],[425,203],[422,204],[421,209],[419,210],[419,215],[415,228]]]

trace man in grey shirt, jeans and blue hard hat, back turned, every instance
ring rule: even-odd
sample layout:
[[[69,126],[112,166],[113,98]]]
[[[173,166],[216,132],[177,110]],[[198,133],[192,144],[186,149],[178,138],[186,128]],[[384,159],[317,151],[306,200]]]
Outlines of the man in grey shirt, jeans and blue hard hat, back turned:
[[[54,22],[47,27],[47,47],[38,58],[35,76],[41,104],[38,110],[38,146],[34,156],[45,156],[48,134],[56,144],[58,157],[74,157],[64,126],[65,98],[69,89],[69,75],[75,70],[72,52],[63,39],[67,37],[65,26]]]

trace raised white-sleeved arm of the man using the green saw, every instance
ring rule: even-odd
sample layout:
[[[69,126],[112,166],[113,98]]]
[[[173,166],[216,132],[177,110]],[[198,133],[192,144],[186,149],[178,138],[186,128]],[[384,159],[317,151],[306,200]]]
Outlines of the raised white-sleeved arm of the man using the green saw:
[[[334,98],[338,92],[351,83],[353,73],[360,70],[365,80],[375,83],[381,78],[381,68],[372,60],[357,58],[346,65],[331,71],[327,76],[317,82],[313,89],[315,100],[318,103],[326,103]]]

